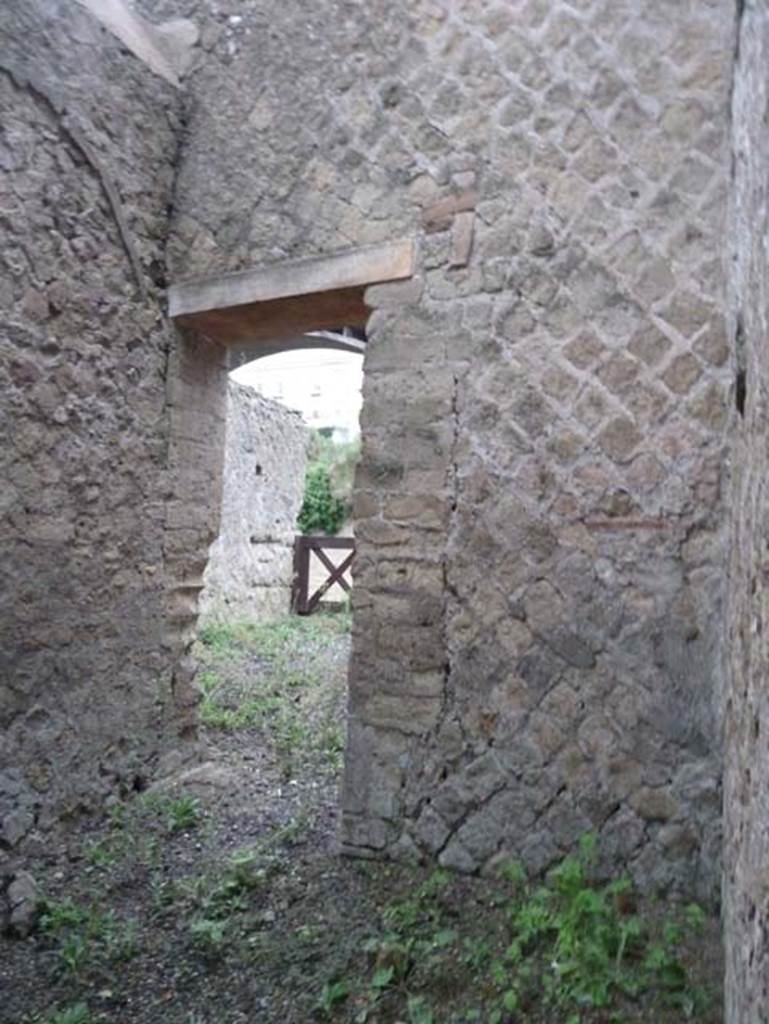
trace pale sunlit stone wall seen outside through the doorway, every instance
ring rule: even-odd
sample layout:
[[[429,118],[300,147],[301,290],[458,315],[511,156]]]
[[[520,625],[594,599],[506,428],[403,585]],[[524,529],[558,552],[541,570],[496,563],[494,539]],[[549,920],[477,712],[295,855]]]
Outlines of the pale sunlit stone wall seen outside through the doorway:
[[[291,607],[309,430],[298,413],[230,381],[219,537],[201,622],[272,622]]]

